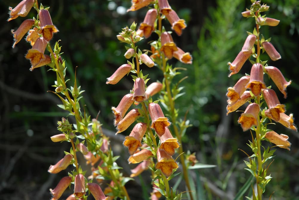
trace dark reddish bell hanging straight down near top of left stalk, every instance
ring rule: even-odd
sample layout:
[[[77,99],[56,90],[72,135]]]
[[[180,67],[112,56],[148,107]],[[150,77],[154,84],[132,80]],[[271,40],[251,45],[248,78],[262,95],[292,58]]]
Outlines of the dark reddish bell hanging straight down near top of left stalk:
[[[39,10],[40,31],[45,40],[50,41],[53,33],[58,32],[58,29],[53,25],[50,13],[48,10]]]

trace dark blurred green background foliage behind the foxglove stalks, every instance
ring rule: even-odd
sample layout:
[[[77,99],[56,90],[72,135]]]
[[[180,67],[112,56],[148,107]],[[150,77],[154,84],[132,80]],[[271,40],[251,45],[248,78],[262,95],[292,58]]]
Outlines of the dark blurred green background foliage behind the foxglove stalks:
[[[277,27],[262,28],[265,38],[271,37],[271,42],[282,55],[282,59],[269,61],[269,65],[280,68],[287,80],[293,81],[287,89],[287,99],[283,99],[275,86],[273,88],[280,102],[286,104],[287,113],[294,113],[296,123],[299,116],[299,3],[297,0],[264,2],[271,6],[267,15],[281,20]],[[66,113],[56,106],[60,104],[58,98],[46,92],[54,90],[51,85],[55,74],[47,72],[47,67],[33,72],[28,70],[30,62],[24,55],[30,45],[24,40],[16,48],[11,48],[13,37],[10,30],[18,28],[24,18],[7,22],[7,8],[18,3],[18,0],[0,1],[0,199],[49,199],[48,188],[55,187],[61,176],[66,175],[66,172],[58,175],[47,172],[49,165],[63,156],[63,150],[70,148],[68,143],[57,144],[50,140],[50,136],[58,134],[57,121],[66,117]],[[125,48],[116,35],[133,21],[141,23],[147,9],[122,13],[131,5],[127,0],[40,0],[39,3],[50,6],[52,21],[60,30],[54,35],[51,45],[61,39],[67,73],[71,79],[69,83],[74,81],[74,69],[78,66],[77,81],[86,91],[82,105],[86,105],[84,108],[92,117],[100,111],[98,119],[103,127],[114,132],[110,108],[116,106],[132,88],[130,77],[125,77],[117,85],[105,84],[106,78],[126,62],[123,57]],[[250,154],[246,143],[251,135],[248,131],[242,132],[237,124],[240,113],[226,116],[225,93],[227,87],[233,86],[242,74],[250,72],[251,66],[247,62],[239,74],[228,78],[226,63],[233,61],[242,48],[246,31],[253,30],[253,20],[242,18],[240,14],[250,6],[250,1],[185,0],[170,1],[170,4],[188,25],[181,37],[173,34],[174,40],[177,46],[193,55],[193,65],[171,61],[175,66],[187,68],[178,80],[186,75],[189,77],[181,83],[185,86],[184,97],[176,101],[181,118],[188,111],[187,118],[193,124],[187,130],[182,145],[185,150],[196,152],[200,163],[217,165],[216,168],[199,170],[205,199],[224,199],[221,196],[223,193],[234,196],[251,176],[243,170],[246,155],[238,151],[239,148]],[[32,9],[26,18],[34,16],[36,12]],[[170,30],[167,23],[164,25]],[[148,49],[147,42],[152,39],[156,39],[154,34],[140,42],[139,47]],[[264,59],[268,59],[266,55]],[[161,81],[161,73],[157,69],[144,69],[146,73],[150,73],[152,81]],[[274,85],[270,80],[265,81],[268,85]],[[292,146],[290,152],[277,149],[275,161],[270,167],[274,178],[266,189],[265,197],[275,191],[273,199],[299,199],[298,133],[279,124],[272,128],[289,135]],[[263,144],[271,145],[267,142]],[[111,146],[118,146],[123,151],[121,140],[112,138]],[[126,157],[122,162],[126,164]],[[124,171],[126,175],[129,173],[128,170]],[[136,194],[134,189],[140,187],[136,186],[140,183],[139,179],[136,180],[136,183],[130,182],[128,185],[132,185],[129,189],[132,196]]]

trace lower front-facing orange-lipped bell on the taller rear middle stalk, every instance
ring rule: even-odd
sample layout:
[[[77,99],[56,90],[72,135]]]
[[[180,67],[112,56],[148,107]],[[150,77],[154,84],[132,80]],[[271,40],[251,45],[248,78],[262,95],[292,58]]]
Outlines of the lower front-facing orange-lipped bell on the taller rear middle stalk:
[[[172,41],[172,37],[169,33],[164,32],[161,34],[161,49],[164,55],[171,59],[173,57],[173,52],[178,51],[179,49],[176,47],[176,44]]]

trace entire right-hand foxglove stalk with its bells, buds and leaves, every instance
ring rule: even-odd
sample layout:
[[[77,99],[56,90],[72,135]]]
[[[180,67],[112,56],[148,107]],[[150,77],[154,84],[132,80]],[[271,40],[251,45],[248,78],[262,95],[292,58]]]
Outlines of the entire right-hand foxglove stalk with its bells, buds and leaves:
[[[255,28],[252,33],[248,32],[248,37],[236,59],[232,63],[228,63],[231,71],[230,77],[237,74],[246,60],[249,59],[252,64],[250,75],[241,77],[234,87],[229,87],[226,96],[228,97],[227,114],[248,103],[245,112],[239,117],[238,123],[243,131],[250,130],[251,132],[252,141],[249,146],[253,151],[253,155],[249,156],[247,154],[249,162],[245,161],[245,164],[248,167],[246,170],[256,178],[257,193],[253,190],[253,197],[247,198],[261,200],[266,185],[272,178],[267,170],[273,162],[271,158],[275,152],[275,149],[271,150],[274,146],[266,149],[262,146],[262,141],[269,141],[274,143],[275,146],[288,150],[290,150],[291,145],[287,135],[278,134],[268,129],[267,126],[275,121],[294,131],[297,131],[297,128],[294,125],[293,114],[285,114],[285,105],[280,104],[271,86],[266,86],[264,75],[267,74],[271,78],[284,98],[286,98],[286,87],[291,84],[291,81],[286,81],[278,68],[268,66],[267,61],[260,59],[260,54],[264,52],[273,61],[281,58],[270,39],[265,39],[261,33],[262,26],[277,26],[279,20],[264,15],[263,12],[269,10],[269,6],[266,4],[254,0],[251,0],[251,3],[250,9],[242,12],[242,16],[254,18]],[[255,134],[252,132],[255,132]]]

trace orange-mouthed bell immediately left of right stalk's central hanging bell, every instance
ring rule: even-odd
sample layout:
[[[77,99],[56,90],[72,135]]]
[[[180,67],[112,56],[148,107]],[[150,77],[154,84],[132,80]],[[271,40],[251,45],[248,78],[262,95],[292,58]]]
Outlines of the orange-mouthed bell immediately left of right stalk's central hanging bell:
[[[247,89],[246,86],[248,85],[249,80],[249,76],[243,76],[238,80],[234,87],[229,87],[227,89],[228,92],[226,93],[226,96],[228,97],[228,104],[234,104],[237,100],[240,99],[244,91]]]

